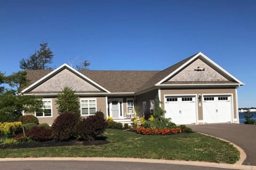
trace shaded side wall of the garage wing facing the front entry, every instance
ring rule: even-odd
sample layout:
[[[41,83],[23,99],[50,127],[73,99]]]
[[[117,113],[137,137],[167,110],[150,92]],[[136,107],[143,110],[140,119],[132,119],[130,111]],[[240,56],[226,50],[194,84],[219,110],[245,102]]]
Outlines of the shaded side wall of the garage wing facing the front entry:
[[[143,101],[146,101],[147,102],[147,107],[146,107],[146,117],[150,114],[150,100],[154,100],[154,107],[155,109],[158,108],[158,105],[157,105],[157,100],[158,100],[158,90],[152,90],[152,91],[149,91],[149,92],[146,92],[145,94],[141,94],[141,95],[138,95],[138,96],[135,96],[135,99],[136,99],[136,104],[135,106],[138,106],[139,108],[139,116],[142,116],[142,104],[143,104]]]

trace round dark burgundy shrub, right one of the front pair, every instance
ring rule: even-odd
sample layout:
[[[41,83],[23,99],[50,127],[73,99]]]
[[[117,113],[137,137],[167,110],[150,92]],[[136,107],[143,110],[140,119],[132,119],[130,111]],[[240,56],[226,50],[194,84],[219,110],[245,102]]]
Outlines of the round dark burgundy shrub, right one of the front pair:
[[[102,112],[101,112],[102,113]],[[97,135],[103,133],[107,128],[107,122],[103,117],[103,113],[99,112],[95,115],[88,116],[79,121],[77,125],[77,134],[81,136],[83,140],[95,140]]]

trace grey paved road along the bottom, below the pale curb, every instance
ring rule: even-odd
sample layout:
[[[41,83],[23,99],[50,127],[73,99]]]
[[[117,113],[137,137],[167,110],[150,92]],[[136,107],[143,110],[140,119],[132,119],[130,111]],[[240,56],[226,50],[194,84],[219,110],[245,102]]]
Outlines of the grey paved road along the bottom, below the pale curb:
[[[223,168],[199,167],[187,165],[129,163],[129,162],[93,162],[93,161],[14,161],[0,162],[0,169],[4,170],[225,170]]]

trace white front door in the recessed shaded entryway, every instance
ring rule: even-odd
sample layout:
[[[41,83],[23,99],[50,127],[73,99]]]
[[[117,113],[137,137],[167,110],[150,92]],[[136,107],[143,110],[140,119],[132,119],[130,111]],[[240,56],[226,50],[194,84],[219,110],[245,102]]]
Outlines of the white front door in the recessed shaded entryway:
[[[108,99],[110,116],[113,118],[123,117],[123,99]]]

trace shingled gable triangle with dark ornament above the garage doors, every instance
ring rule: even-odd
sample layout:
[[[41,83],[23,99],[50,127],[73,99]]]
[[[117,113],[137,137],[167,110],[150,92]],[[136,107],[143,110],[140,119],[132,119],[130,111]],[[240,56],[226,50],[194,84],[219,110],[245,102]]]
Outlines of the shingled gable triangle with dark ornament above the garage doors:
[[[198,66],[205,70],[195,71]],[[169,81],[228,81],[228,79],[198,58]]]

